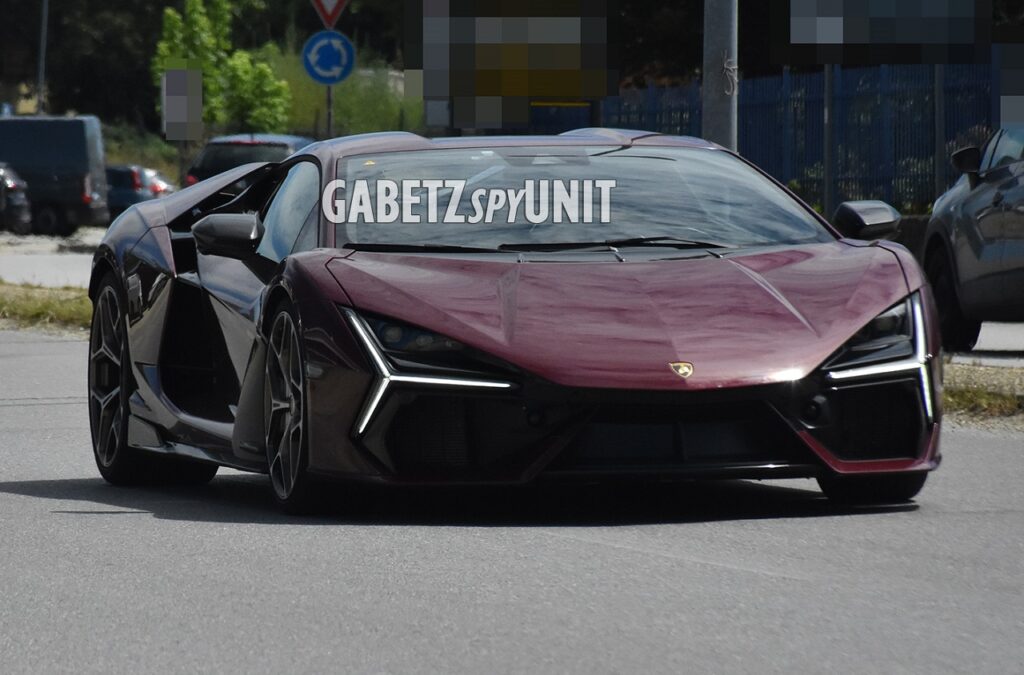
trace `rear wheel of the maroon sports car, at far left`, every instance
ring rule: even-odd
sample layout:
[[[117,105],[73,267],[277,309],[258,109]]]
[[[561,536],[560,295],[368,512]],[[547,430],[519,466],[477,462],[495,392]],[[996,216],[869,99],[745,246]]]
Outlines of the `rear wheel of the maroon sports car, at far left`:
[[[209,482],[217,465],[164,457],[128,446],[131,390],[125,294],[113,272],[99,284],[89,332],[89,428],[100,475],[115,486]]]

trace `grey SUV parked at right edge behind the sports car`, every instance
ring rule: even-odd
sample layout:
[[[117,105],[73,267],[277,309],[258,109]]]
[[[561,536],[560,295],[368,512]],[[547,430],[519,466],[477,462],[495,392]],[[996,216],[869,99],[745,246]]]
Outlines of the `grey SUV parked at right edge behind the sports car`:
[[[959,179],[935,202],[919,256],[947,350],[969,351],[981,322],[1024,322],[1024,126],[952,156]]]

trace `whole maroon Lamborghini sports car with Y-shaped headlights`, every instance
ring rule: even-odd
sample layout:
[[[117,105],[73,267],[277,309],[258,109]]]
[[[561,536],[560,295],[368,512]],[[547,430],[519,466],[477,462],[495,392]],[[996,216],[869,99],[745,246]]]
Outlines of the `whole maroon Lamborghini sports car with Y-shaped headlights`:
[[[238,193],[238,185],[248,185]],[[913,257],[649,132],[310,145],[131,207],[89,289],[114,483],[816,477],[912,498],[941,360]]]

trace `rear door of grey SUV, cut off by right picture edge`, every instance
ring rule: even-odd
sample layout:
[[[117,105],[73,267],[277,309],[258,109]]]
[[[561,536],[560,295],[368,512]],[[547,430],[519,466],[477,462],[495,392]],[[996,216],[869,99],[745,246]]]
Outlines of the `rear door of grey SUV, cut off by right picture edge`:
[[[1001,302],[993,318],[1024,321],[1024,127],[1007,129],[1004,138],[1009,140],[999,143],[1000,156],[993,160],[1002,164],[1007,174],[999,188]]]

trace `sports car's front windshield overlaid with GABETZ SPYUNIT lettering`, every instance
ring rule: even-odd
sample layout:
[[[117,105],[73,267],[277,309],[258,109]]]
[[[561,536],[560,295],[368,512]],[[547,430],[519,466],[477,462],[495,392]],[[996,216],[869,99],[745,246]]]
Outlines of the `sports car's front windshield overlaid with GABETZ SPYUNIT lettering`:
[[[337,223],[339,246],[745,247],[834,239],[758,171],[707,149],[382,153],[339,160],[338,177],[344,184],[324,207]]]

